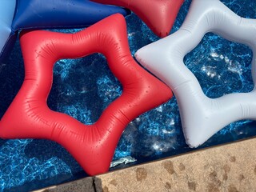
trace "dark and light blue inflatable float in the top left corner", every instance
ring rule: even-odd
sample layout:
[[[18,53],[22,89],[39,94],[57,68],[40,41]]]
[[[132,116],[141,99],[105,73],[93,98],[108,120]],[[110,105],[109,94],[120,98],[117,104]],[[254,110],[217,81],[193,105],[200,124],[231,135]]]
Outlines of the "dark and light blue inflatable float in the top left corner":
[[[121,7],[88,0],[2,0],[0,63],[10,53],[18,30],[86,27],[116,13],[130,14]]]

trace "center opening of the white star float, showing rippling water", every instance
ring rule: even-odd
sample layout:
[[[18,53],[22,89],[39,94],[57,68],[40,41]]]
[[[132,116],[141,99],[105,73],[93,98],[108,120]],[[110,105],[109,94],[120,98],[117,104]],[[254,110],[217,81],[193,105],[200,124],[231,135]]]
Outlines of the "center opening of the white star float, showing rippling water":
[[[254,89],[252,55],[249,46],[208,33],[194,50],[186,54],[184,62],[198,78],[204,94],[218,98]]]

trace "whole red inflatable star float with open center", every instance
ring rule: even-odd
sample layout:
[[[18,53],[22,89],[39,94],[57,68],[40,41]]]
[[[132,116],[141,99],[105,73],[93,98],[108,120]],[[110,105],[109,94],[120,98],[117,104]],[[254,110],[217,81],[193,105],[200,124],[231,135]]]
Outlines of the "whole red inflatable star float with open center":
[[[106,172],[126,125],[171,98],[170,89],[142,69],[130,54],[126,22],[114,14],[76,34],[23,32],[20,38],[25,80],[0,122],[2,138],[46,138],[66,148],[90,175]],[[50,110],[46,100],[54,63],[96,52],[106,56],[122,83],[122,95],[93,125]]]

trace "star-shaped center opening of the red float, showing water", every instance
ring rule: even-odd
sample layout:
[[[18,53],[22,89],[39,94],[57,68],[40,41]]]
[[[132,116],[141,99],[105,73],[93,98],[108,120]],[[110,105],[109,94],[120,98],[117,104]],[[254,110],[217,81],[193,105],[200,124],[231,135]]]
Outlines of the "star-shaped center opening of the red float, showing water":
[[[110,71],[104,55],[91,54],[55,63],[54,82],[47,103],[51,110],[92,124],[120,94],[122,85]]]

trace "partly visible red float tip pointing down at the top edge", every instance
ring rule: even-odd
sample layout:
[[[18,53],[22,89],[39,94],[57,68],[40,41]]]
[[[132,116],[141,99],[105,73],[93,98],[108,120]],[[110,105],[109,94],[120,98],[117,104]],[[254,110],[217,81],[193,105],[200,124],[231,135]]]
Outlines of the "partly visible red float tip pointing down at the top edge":
[[[92,0],[132,10],[158,37],[170,34],[184,0]]]

